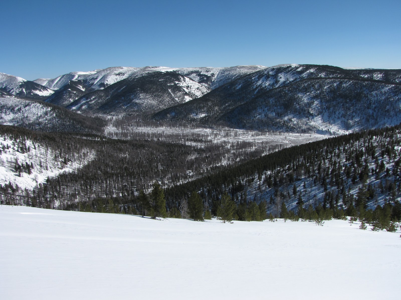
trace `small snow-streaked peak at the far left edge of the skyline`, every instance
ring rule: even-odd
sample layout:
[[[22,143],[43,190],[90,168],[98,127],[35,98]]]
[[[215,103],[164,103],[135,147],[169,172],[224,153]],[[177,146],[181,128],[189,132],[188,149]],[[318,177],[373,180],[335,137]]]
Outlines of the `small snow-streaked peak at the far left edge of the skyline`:
[[[16,96],[36,100],[46,99],[54,93],[53,90],[46,86],[4,73],[0,73],[0,90]]]

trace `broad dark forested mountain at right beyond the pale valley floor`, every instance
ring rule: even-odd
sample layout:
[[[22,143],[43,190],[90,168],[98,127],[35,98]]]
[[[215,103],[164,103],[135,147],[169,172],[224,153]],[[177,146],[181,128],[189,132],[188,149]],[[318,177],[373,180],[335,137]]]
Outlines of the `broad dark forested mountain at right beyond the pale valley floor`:
[[[296,132],[393,125],[401,122],[400,77],[401,70],[279,65],[233,80],[154,118]],[[355,113],[348,114],[352,105]],[[386,119],[378,121],[374,114]],[[371,117],[369,122],[363,120],[366,117]]]

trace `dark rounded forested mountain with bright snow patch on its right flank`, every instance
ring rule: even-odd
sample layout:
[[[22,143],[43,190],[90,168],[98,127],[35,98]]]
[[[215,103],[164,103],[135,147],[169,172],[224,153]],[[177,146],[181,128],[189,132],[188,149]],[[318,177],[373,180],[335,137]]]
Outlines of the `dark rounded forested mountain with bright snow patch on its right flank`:
[[[206,94],[207,88],[174,72],[148,72],[85,94],[67,108],[77,112],[149,114]]]

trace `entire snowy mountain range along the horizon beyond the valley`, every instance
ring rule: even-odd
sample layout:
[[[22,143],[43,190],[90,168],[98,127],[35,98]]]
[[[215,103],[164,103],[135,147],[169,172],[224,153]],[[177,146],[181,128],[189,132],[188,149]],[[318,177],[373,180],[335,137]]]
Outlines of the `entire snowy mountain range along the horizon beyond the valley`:
[[[341,134],[401,122],[401,70],[112,67],[34,82],[2,74],[0,84],[81,114],[206,126]]]

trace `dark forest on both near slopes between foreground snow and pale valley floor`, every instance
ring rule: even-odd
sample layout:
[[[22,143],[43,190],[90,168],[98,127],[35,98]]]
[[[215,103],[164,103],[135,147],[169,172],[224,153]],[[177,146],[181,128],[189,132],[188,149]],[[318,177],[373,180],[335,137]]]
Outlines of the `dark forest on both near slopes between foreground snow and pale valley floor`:
[[[24,136],[58,147],[59,158],[67,163],[75,159],[68,155],[75,153],[72,149],[97,149],[96,158],[80,170],[49,178],[33,191],[2,185],[2,204],[131,214],[145,210],[146,214],[152,210],[141,200],[141,193],[142,197],[151,195],[159,182],[170,217],[189,216],[188,203],[195,192],[202,201],[202,214],[208,217],[219,216],[225,211],[222,207],[229,207],[232,213],[227,219],[233,220],[268,216],[294,220],[318,216],[324,220],[346,215],[373,222],[378,214],[383,220],[401,220],[397,200],[401,192],[401,126],[293,146],[208,171],[203,165],[206,160],[220,159],[212,155],[217,149],[93,134],[56,137],[6,126],[2,130],[14,140]],[[188,160],[191,154],[194,156]],[[188,164],[197,179],[190,180],[184,172]],[[28,166],[29,162],[21,166],[20,172],[30,172]],[[383,224],[389,224],[386,222]]]

